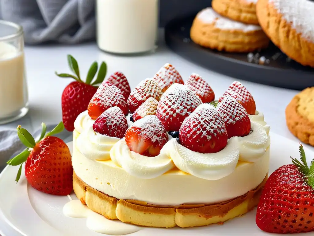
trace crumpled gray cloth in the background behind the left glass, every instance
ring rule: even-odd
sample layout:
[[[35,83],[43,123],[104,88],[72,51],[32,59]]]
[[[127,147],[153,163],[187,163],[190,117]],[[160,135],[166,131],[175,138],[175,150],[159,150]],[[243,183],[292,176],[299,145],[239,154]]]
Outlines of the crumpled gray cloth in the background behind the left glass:
[[[95,0],[0,0],[0,19],[22,25],[28,44],[95,39]]]

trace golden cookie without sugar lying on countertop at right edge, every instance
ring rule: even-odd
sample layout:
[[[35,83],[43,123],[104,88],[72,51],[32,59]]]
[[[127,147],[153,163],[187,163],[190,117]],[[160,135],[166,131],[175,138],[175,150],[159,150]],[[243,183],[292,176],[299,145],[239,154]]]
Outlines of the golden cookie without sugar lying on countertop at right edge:
[[[314,146],[314,87],[297,94],[286,108],[288,129],[303,143]]]

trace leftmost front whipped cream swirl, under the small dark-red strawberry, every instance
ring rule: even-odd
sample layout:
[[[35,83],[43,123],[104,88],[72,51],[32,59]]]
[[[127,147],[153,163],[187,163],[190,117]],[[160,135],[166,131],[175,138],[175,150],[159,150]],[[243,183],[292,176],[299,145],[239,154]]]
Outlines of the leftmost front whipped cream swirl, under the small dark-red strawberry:
[[[110,150],[119,140],[120,138],[96,133],[93,126],[89,126],[78,136],[75,145],[88,159],[110,160]]]

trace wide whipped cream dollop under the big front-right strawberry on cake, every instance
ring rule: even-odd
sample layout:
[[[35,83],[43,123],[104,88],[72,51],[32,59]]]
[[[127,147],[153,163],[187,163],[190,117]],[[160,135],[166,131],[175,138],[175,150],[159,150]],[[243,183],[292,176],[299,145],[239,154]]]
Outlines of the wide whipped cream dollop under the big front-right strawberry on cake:
[[[167,146],[166,146],[167,145]],[[178,169],[196,177],[217,180],[230,175],[239,160],[237,137],[228,140],[227,146],[217,153],[198,153],[172,139],[164,146]]]

